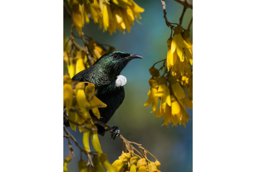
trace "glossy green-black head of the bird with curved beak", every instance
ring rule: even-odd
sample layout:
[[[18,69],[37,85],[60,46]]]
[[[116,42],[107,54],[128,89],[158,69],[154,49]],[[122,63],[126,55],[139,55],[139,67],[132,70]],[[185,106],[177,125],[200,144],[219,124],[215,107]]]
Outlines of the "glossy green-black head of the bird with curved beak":
[[[132,55],[123,51],[112,51],[102,55],[97,60],[97,65],[100,65],[104,70],[108,71],[111,76],[119,76],[120,72],[132,59],[143,59],[140,55]]]

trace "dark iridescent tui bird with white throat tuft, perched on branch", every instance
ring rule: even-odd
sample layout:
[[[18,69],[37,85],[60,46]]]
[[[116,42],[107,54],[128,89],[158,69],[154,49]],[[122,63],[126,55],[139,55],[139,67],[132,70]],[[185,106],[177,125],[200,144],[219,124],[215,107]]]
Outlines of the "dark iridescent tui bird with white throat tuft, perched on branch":
[[[124,87],[122,84],[121,86],[116,85],[116,80],[120,72],[132,59],[143,58],[140,55],[132,55],[122,51],[112,51],[102,55],[91,67],[80,71],[72,78],[72,80],[81,82],[87,81],[95,84],[97,98],[107,105],[106,108],[99,108],[102,117],[100,119],[93,114],[92,110],[89,111],[93,120],[99,120],[106,124],[115,113],[115,110],[118,109],[124,101]],[[98,134],[104,136],[106,131],[104,127],[97,124],[96,126]],[[115,140],[119,134],[119,127],[113,126],[110,131],[110,139]]]

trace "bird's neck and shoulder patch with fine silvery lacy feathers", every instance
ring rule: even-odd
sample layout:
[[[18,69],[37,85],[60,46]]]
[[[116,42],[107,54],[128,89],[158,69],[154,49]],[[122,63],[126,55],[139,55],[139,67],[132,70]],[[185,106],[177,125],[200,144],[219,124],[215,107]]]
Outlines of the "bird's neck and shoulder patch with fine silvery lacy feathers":
[[[107,71],[103,71],[97,65],[93,65],[83,71],[77,73],[72,80],[77,80],[80,82],[90,82],[96,86],[109,84]]]

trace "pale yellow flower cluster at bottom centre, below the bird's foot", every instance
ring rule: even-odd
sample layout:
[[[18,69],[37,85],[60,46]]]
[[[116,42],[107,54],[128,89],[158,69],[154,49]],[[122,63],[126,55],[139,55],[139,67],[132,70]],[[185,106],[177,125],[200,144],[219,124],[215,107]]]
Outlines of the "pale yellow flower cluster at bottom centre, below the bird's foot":
[[[112,167],[115,167],[118,172],[160,172],[160,165],[158,160],[152,162],[136,155],[131,157],[131,153],[123,153],[119,159],[115,160]]]

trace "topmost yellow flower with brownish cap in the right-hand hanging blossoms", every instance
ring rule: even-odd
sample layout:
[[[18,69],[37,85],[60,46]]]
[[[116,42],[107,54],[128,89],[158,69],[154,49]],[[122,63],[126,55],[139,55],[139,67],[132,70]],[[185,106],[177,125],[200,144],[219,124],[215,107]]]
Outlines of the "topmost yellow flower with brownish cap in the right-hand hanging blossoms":
[[[185,59],[183,48],[190,48],[191,47],[182,38],[182,36],[181,36],[182,30],[183,30],[182,26],[177,26],[174,29],[173,38],[172,38],[172,44],[171,44],[171,55],[176,50],[177,51],[177,55],[180,58],[181,62],[183,62],[184,59]]]

